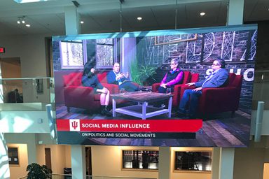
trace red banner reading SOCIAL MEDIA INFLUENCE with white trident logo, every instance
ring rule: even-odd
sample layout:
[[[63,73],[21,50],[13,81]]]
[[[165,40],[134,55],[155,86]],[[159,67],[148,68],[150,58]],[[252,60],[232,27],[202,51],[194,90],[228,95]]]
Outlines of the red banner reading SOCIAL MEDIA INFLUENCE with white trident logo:
[[[196,132],[202,120],[57,120],[58,131]]]

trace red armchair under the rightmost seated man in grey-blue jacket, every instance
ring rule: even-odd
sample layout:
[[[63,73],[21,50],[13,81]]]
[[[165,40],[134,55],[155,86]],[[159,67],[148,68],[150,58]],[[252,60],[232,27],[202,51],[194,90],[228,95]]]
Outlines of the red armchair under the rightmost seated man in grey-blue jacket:
[[[198,113],[209,114],[232,111],[233,115],[239,107],[242,79],[242,75],[229,73],[228,85],[226,87],[202,89]],[[181,96],[183,96],[184,90],[192,88],[194,87],[188,87],[186,85],[181,87]]]

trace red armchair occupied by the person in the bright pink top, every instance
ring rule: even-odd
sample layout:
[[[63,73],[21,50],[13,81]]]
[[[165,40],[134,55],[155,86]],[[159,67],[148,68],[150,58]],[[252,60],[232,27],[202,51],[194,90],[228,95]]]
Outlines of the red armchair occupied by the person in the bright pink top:
[[[172,106],[174,107],[179,106],[179,99],[181,99],[181,87],[184,86],[184,84],[186,83],[196,82],[198,81],[198,79],[199,79],[198,73],[191,73],[190,71],[184,71],[183,83],[174,86],[174,92],[172,92],[172,94],[174,94],[172,99]],[[160,83],[154,83],[152,85],[152,92],[158,92],[158,87],[160,87]]]

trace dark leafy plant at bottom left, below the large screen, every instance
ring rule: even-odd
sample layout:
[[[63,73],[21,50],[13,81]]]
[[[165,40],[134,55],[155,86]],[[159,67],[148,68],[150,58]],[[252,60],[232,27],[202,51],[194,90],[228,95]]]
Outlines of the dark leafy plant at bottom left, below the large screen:
[[[26,171],[28,171],[27,179],[48,179],[52,178],[51,173],[53,173],[46,165],[41,166],[36,163],[29,164]]]

